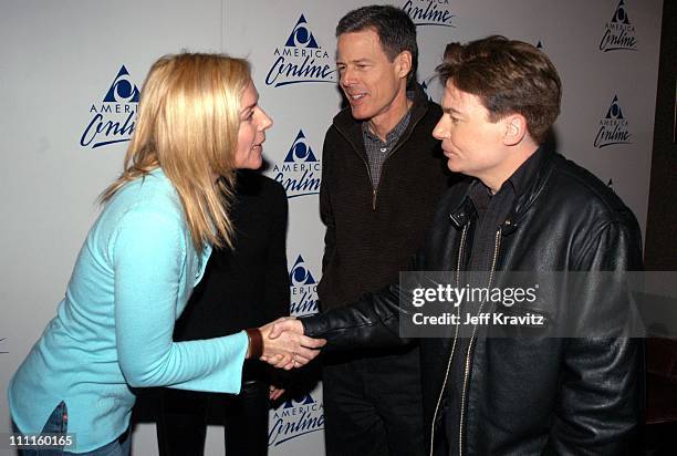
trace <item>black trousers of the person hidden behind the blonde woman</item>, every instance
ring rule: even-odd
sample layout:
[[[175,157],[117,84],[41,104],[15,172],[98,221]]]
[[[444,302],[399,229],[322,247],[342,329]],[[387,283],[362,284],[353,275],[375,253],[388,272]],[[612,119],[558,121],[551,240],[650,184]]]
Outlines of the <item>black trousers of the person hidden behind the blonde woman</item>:
[[[269,406],[268,384],[261,381],[244,382],[237,396],[165,388],[157,419],[159,454],[202,456],[213,413],[225,427],[227,456],[265,456]]]

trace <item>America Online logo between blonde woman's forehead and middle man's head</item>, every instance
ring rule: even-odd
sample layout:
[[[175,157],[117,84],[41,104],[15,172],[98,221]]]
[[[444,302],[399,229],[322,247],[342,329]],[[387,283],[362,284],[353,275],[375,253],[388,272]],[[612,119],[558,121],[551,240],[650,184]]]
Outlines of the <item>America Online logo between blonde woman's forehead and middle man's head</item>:
[[[273,52],[275,61],[268,71],[265,85],[335,82],[335,65],[317,43],[305,17],[301,14],[284,45]]]

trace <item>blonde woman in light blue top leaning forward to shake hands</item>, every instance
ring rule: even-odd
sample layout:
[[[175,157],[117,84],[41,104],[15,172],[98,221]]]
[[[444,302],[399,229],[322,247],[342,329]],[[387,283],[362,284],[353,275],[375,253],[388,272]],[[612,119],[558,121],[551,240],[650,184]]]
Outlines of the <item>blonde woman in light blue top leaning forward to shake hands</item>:
[[[212,246],[230,245],[235,170],[261,165],[271,125],[246,61],[184,53],[153,65],[124,172],[102,195],[56,317],[10,383],[18,432],[65,434],[74,454],[128,455],[132,387],[238,393],[246,357],[290,369],[316,355],[323,341],[270,340],[270,325],[171,340]]]

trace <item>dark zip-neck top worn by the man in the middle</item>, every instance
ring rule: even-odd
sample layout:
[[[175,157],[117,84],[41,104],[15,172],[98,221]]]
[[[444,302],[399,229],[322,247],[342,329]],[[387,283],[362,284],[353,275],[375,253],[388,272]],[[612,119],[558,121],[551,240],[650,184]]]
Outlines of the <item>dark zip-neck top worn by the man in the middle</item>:
[[[362,123],[342,110],[327,129],[322,153],[320,213],[326,225],[320,307],[354,302],[398,280],[423,246],[438,198],[449,186],[440,142],[433,128],[438,104],[415,86],[412,118],[386,158],[373,188]]]

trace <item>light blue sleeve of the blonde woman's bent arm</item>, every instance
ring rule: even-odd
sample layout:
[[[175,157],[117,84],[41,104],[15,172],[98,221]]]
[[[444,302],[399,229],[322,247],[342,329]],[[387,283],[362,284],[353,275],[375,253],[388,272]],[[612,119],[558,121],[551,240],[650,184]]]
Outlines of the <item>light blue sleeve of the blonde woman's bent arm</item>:
[[[131,386],[239,393],[247,334],[173,342],[186,241],[174,214],[132,211],[114,237],[115,336]],[[185,294],[185,293],[184,293]]]

